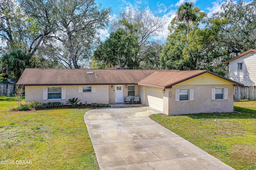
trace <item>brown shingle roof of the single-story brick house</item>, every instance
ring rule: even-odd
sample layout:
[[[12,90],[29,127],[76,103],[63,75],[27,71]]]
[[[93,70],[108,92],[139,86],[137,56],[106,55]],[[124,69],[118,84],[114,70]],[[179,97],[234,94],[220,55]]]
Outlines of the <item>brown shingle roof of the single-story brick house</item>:
[[[138,85],[171,88],[172,85],[203,73],[211,72],[206,70],[25,69],[17,85],[115,85],[138,83]],[[211,74],[226,79],[214,73]],[[226,80],[243,86],[230,79]]]

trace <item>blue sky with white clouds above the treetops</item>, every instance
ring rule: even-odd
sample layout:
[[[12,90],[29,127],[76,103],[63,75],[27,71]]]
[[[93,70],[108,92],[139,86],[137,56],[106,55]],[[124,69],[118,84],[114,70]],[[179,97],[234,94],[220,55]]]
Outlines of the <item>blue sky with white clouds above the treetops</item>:
[[[164,26],[163,32],[160,33],[156,40],[164,41],[169,32],[167,30],[170,21],[174,18],[176,10],[180,4],[186,2],[186,0],[95,0],[96,4],[101,3],[102,7],[112,8],[111,18],[119,14],[119,11],[126,7],[132,8],[148,8],[155,16],[165,17],[168,19],[168,23]],[[212,16],[215,12],[221,10],[221,4],[224,0],[189,0],[194,2],[195,6],[205,11],[208,16]],[[105,40],[109,36],[108,30],[100,30],[101,40]]]

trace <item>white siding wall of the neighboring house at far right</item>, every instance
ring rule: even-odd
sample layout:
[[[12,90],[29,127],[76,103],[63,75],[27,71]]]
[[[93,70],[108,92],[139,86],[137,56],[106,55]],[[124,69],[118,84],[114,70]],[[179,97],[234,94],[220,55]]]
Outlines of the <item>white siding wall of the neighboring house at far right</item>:
[[[243,63],[243,70],[238,69],[238,63]],[[229,62],[229,78],[245,86],[256,85],[256,54],[246,53]]]

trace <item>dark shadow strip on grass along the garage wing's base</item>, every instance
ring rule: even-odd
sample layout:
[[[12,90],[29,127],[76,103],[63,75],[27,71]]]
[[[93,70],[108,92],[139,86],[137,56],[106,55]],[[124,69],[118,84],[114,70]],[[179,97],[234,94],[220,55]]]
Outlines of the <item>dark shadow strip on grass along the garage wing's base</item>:
[[[192,119],[256,119],[256,111],[244,107],[235,107],[235,110],[242,113],[199,113],[183,115]]]

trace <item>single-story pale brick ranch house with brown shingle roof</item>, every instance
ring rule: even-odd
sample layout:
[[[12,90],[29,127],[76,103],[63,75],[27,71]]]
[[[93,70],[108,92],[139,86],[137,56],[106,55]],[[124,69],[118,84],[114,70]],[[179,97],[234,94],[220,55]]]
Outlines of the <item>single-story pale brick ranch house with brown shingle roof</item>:
[[[142,104],[166,115],[233,112],[234,86],[242,84],[210,71],[25,69],[18,85],[25,101],[124,103],[140,96]]]

